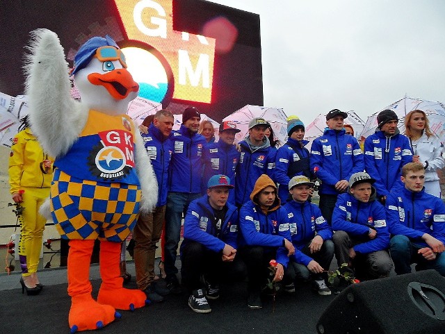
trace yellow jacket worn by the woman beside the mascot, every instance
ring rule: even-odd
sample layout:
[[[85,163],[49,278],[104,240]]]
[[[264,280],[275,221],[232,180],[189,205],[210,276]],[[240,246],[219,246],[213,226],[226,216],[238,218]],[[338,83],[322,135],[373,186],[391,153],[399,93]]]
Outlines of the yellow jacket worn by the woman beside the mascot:
[[[53,167],[45,170],[43,160],[54,158],[43,152],[37,138],[26,128],[15,135],[9,156],[10,192],[18,192],[22,187],[51,187]]]

